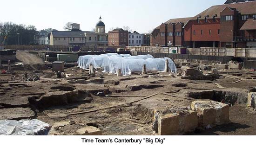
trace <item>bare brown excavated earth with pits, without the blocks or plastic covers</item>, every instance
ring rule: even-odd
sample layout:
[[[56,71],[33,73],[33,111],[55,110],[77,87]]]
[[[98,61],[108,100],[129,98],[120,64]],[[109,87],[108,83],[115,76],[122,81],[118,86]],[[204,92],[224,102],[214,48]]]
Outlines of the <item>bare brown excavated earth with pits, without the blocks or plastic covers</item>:
[[[40,58],[22,51],[17,52],[17,57],[19,63],[24,65],[13,63],[11,74],[0,74],[0,90],[12,91],[0,92],[0,119],[37,118],[52,126],[62,121],[73,122],[66,122],[65,126],[56,129],[53,127],[50,135],[73,135],[84,126],[100,128],[104,135],[152,135],[154,109],[189,107],[191,102],[197,99],[212,99],[219,102],[224,99],[225,102],[232,104],[231,123],[207,130],[197,129],[188,135],[256,135],[256,111],[246,107],[249,89],[256,87],[255,71],[220,71],[243,78],[242,81],[232,84],[230,82],[238,79],[221,77],[214,81],[186,80],[158,72],[117,77],[98,71],[95,77],[91,77],[88,71],[81,72],[76,67],[65,68],[65,73],[71,75],[59,79],[48,65],[47,67],[40,61]],[[24,59],[28,57],[36,61],[36,64]],[[40,80],[25,81],[22,77],[26,72],[39,75]],[[104,76],[104,83],[100,81],[101,74]],[[225,89],[218,89],[215,83],[229,84],[221,84]],[[19,85],[23,86],[17,87]],[[181,90],[169,93],[172,96],[161,94],[174,89]],[[107,96],[96,96],[97,92],[104,92]],[[159,94],[133,102],[155,93]],[[133,103],[102,109],[128,102]],[[67,115],[95,109],[102,110],[62,118],[50,118],[47,115]]]

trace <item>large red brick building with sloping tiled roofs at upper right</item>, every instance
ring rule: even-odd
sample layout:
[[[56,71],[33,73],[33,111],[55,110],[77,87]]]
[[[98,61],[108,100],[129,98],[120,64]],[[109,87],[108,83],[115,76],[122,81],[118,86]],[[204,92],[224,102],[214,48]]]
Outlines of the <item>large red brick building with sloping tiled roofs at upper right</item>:
[[[172,26],[174,23],[167,22],[155,28],[151,45],[167,46],[171,41],[171,46],[256,48],[256,1],[231,3],[228,0],[226,3],[211,6],[193,18],[170,19],[176,20],[175,27]],[[182,32],[181,36],[179,33],[170,33],[175,37],[162,33],[172,32],[172,28]],[[161,37],[156,36],[158,33]]]

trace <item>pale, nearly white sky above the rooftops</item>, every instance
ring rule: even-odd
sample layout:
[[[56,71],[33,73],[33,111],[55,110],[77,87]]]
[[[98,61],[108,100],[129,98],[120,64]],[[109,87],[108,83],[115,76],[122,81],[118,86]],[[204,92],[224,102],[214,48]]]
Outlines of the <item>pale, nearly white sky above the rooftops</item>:
[[[129,26],[147,33],[172,18],[194,17],[226,0],[1,0],[0,22],[63,30],[67,22],[92,31],[101,15],[108,31]]]

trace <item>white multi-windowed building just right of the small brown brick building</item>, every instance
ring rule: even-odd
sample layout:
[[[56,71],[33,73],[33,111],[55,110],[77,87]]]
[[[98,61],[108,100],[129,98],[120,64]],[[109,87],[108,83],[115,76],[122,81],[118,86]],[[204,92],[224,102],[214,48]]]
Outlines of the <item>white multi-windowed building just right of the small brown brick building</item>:
[[[142,46],[143,45],[143,34],[136,31],[128,33],[128,45],[129,46]]]

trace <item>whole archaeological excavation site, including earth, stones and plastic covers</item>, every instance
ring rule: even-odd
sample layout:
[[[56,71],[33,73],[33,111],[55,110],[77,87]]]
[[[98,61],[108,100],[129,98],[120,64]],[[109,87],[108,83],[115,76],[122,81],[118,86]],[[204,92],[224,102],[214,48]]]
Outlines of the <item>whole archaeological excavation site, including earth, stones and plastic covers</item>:
[[[256,64],[148,51],[0,51],[0,134],[256,135]]]

